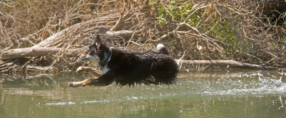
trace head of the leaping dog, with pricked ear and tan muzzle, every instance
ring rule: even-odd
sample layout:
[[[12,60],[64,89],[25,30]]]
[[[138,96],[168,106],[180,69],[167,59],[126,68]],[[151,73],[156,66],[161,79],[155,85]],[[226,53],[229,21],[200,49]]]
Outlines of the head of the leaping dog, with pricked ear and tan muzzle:
[[[109,52],[109,46],[105,41],[101,41],[99,35],[97,35],[94,44],[90,45],[86,52],[80,53],[77,56],[80,61],[91,61],[102,67],[103,62],[107,60]]]

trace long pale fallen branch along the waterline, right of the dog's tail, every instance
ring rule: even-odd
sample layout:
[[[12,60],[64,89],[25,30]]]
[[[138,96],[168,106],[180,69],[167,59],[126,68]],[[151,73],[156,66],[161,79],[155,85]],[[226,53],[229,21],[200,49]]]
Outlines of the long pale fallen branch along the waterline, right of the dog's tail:
[[[239,68],[249,68],[249,69],[256,69],[256,70],[286,70],[285,68],[260,66],[260,65],[256,65],[256,64],[248,64],[248,63],[238,62],[236,60],[181,60],[181,63],[182,64],[190,64],[190,65],[200,64],[202,66],[239,67]]]

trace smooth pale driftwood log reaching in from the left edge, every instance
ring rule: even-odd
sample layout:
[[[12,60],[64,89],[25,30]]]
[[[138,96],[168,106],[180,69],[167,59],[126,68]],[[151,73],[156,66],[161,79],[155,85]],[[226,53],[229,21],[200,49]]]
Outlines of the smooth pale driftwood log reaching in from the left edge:
[[[57,53],[61,49],[62,48],[40,47],[40,48],[18,48],[18,49],[3,50],[0,55],[0,60],[15,59],[22,57],[45,56],[49,53],[52,54]]]

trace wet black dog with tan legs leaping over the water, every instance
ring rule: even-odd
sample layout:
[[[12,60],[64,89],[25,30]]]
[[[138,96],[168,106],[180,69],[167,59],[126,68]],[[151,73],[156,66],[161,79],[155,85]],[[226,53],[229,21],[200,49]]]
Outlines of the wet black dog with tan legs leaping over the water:
[[[142,84],[170,85],[179,82],[179,67],[162,44],[157,51],[140,52],[137,50],[122,50],[109,46],[106,40],[97,35],[94,44],[86,52],[77,55],[79,61],[90,61],[100,70],[91,67],[79,67],[76,72],[88,72],[95,79],[81,82],[69,82],[71,87],[79,86],[115,86],[133,87]]]

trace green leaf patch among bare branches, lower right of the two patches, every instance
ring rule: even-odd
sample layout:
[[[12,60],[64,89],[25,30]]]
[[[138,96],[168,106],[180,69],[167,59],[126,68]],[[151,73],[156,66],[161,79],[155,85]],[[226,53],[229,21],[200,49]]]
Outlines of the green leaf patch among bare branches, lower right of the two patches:
[[[225,45],[226,54],[228,56],[233,56],[236,50],[239,52],[253,52],[258,49],[258,46],[248,42],[243,36],[239,35],[237,32],[241,23],[233,25],[236,19],[220,19],[213,18],[210,24],[202,24],[200,30],[203,32],[208,32],[212,36],[215,36],[217,40],[223,41],[228,45]]]

